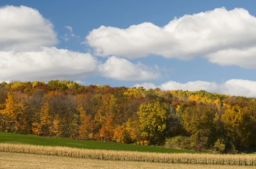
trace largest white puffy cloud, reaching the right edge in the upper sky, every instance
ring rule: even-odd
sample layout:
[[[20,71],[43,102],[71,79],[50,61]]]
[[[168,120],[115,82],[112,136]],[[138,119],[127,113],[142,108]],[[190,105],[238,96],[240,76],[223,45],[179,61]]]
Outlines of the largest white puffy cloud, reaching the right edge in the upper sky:
[[[256,68],[256,62],[253,66],[251,62],[256,57],[251,49],[256,47],[256,18],[243,8],[184,15],[163,27],[152,23],[126,29],[101,26],[93,29],[84,43],[93,47],[97,56],[131,59],[156,54],[183,60],[203,56],[221,65]],[[239,54],[233,56],[234,51]]]

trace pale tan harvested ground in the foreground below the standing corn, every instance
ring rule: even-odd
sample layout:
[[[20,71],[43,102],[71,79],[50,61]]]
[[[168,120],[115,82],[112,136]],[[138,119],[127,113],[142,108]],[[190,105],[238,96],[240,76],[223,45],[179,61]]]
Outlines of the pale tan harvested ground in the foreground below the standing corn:
[[[254,169],[250,166],[220,166],[103,161],[81,158],[0,152],[0,169]]]

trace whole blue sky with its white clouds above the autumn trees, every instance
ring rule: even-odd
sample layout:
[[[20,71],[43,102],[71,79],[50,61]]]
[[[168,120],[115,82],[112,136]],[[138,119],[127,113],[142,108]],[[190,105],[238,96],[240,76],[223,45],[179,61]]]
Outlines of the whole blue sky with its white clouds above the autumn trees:
[[[253,0],[1,0],[0,82],[256,97]]]

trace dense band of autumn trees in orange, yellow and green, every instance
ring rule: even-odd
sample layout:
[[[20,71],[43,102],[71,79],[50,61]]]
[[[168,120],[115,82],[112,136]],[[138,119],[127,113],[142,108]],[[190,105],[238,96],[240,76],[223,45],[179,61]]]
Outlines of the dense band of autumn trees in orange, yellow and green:
[[[247,152],[256,147],[256,99],[59,80],[2,82],[0,131]]]

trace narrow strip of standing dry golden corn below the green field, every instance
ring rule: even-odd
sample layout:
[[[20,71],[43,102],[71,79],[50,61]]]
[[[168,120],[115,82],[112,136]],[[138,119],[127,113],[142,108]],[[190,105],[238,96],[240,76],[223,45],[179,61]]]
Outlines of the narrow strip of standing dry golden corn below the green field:
[[[62,157],[110,161],[143,161],[155,163],[256,166],[256,155],[130,152],[78,149],[63,146],[35,146],[5,143],[0,143],[0,152],[15,152],[35,155],[56,155]]]

